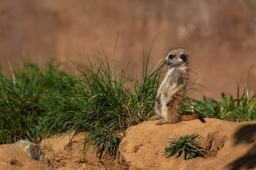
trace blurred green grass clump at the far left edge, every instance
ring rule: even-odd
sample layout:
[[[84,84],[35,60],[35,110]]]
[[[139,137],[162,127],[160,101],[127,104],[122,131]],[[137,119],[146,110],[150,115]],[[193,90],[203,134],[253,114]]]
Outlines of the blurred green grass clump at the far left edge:
[[[29,62],[23,69],[13,70],[10,74],[0,72],[0,144],[17,142],[19,139],[29,139],[39,142],[39,131],[42,113],[45,108],[39,108],[41,95],[49,95],[55,88],[55,74],[64,75],[53,68],[53,60],[47,64],[49,69],[45,74],[36,63]]]

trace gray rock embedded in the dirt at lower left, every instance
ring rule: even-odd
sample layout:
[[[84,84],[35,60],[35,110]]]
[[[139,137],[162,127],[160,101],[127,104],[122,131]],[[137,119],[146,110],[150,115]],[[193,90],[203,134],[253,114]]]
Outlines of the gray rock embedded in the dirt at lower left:
[[[50,167],[51,170],[55,170],[39,144],[34,144],[29,142],[29,140],[21,139],[11,145],[22,147],[30,158],[41,161],[43,164],[46,164],[48,167]]]

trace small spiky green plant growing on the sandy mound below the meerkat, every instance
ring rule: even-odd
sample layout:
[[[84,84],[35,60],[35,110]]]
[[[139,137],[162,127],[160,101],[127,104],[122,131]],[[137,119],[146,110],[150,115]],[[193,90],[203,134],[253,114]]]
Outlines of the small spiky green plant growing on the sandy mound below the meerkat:
[[[198,133],[193,133],[186,136],[176,136],[176,139],[170,139],[170,146],[164,148],[164,155],[166,158],[177,155],[180,156],[183,153],[183,159],[192,159],[196,156],[204,156],[204,151],[199,147],[201,144],[196,138],[198,138]]]

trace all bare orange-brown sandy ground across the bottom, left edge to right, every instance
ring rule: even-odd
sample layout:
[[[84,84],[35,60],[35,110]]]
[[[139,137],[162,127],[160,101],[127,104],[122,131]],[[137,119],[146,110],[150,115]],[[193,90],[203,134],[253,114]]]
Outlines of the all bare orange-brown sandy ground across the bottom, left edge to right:
[[[69,143],[70,136],[56,137],[41,142],[51,163],[59,170],[248,170],[256,169],[256,121],[227,122],[205,119],[177,124],[155,125],[145,121],[129,128],[119,145],[118,158],[108,156],[99,160],[88,150],[85,160],[81,149],[87,133],[80,133]],[[183,156],[166,159],[163,148],[168,138],[198,133],[201,147],[207,150],[202,158],[183,160]],[[0,145],[0,169],[47,170],[38,161],[30,159],[19,147]]]

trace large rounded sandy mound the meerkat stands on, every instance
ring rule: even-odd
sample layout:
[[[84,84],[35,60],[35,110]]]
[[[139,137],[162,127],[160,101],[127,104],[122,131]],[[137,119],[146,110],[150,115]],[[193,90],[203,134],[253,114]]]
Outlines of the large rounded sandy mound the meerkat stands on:
[[[157,126],[156,121],[146,121],[130,127],[127,137],[119,145],[131,170],[242,170],[256,169],[256,121],[227,122],[205,119]],[[183,160],[163,156],[169,139],[196,133],[201,136],[201,146],[208,150],[207,158]]]

